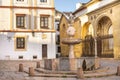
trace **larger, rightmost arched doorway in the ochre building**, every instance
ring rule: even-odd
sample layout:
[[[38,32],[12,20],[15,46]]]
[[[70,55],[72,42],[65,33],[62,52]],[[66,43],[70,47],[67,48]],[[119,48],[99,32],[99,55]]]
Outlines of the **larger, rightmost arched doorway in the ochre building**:
[[[109,17],[104,16],[98,21],[97,53],[99,57],[114,57],[113,55],[113,28]]]

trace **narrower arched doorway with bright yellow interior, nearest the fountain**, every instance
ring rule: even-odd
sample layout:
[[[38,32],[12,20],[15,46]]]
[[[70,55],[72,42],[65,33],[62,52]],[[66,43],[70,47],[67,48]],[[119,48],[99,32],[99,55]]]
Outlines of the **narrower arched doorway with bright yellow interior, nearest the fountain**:
[[[82,28],[82,56],[94,56],[93,26],[87,22]]]

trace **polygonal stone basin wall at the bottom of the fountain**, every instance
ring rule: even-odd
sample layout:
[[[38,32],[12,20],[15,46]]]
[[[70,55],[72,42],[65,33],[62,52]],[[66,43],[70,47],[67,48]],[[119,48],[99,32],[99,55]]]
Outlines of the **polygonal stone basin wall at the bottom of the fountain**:
[[[94,70],[99,68],[99,58],[81,57],[81,58],[58,58],[44,60],[44,69],[55,71],[77,71],[78,68],[83,70]]]

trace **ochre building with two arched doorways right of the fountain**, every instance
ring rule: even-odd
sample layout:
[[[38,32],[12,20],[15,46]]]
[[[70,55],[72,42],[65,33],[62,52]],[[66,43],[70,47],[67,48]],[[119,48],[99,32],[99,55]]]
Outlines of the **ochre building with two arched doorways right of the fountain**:
[[[91,0],[75,10],[73,16],[73,25],[76,28],[75,38],[82,40],[80,44],[74,46],[76,57],[120,58],[119,0]],[[61,20],[61,28],[63,28],[62,23],[64,21]],[[63,30],[61,35],[62,33],[64,33]],[[63,50],[65,49],[61,48],[61,52]],[[68,54],[68,52],[64,51],[61,54]]]

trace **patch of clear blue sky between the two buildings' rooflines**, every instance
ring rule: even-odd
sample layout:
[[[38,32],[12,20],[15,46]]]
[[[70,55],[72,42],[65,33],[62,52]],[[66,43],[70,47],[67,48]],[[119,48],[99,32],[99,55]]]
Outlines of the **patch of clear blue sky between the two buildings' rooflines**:
[[[90,0],[54,0],[55,1],[55,8],[61,12],[70,12],[75,11],[76,3],[86,3]]]

